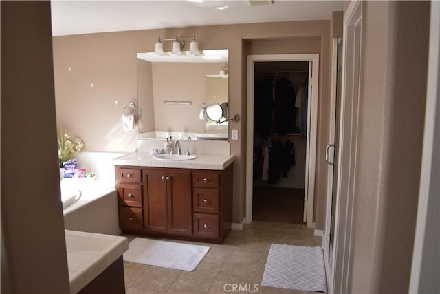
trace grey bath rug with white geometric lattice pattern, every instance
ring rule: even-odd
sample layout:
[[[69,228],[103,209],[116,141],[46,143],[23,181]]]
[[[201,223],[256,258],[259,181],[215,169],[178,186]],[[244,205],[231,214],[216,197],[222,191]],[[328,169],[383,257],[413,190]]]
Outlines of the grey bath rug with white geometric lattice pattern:
[[[261,286],[326,292],[322,248],[272,244]]]

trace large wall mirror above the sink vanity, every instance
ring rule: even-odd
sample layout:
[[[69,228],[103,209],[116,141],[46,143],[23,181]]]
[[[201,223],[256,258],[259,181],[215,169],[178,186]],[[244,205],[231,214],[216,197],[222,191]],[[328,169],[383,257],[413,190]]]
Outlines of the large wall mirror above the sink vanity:
[[[228,140],[228,50],[137,54],[139,138]]]

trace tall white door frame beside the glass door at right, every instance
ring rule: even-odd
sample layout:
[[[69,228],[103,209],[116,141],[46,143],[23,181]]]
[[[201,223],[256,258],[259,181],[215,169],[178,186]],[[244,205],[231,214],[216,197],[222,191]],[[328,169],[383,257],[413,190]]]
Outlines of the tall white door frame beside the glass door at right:
[[[362,114],[362,72],[365,1],[351,1],[344,15],[342,50],[342,95],[340,114],[338,187],[336,192],[335,239],[329,293],[349,293],[358,148]]]

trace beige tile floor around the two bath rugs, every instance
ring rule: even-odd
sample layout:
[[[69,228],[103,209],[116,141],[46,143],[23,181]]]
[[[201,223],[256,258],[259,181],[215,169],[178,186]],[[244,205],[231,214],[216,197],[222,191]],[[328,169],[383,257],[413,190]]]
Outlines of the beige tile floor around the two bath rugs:
[[[127,237],[129,240],[134,238]],[[229,284],[234,283],[250,287],[248,289],[252,291],[247,293],[310,293],[264,287],[261,286],[261,280],[270,244],[321,246],[322,241],[320,237],[314,236],[313,229],[307,229],[302,224],[253,222],[245,224],[242,231],[230,231],[221,245],[186,243],[211,247],[195,271],[179,271],[124,261],[126,294],[237,293],[230,291],[232,288]],[[253,288],[254,284],[258,291]]]

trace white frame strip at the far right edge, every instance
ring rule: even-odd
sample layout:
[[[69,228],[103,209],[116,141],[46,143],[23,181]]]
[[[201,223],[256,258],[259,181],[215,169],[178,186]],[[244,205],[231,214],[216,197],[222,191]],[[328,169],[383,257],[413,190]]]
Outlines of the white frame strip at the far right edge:
[[[436,293],[439,287],[440,265],[434,256],[440,246],[440,3],[432,1],[430,9],[425,127],[409,293]]]

